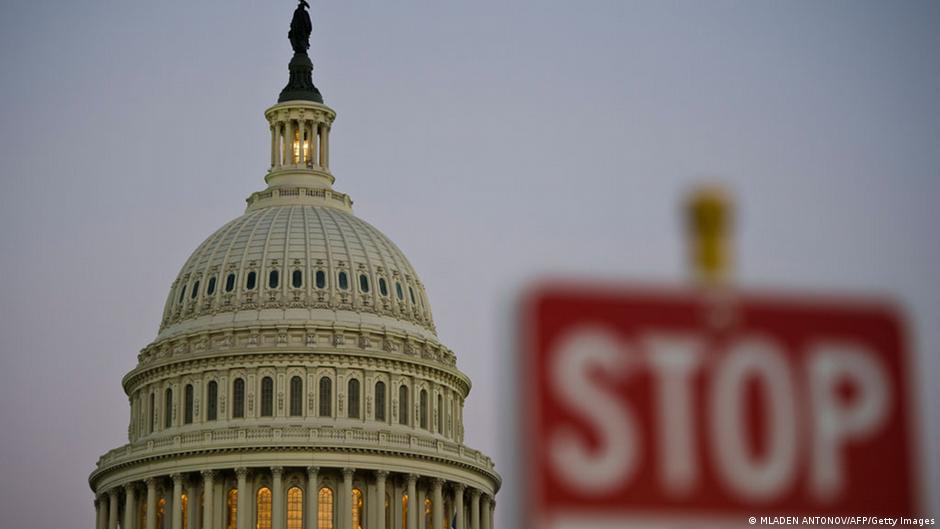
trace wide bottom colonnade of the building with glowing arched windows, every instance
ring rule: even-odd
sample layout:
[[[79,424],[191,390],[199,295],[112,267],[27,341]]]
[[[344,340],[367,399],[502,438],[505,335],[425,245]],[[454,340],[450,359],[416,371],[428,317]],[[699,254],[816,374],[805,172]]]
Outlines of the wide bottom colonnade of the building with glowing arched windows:
[[[270,503],[262,514],[263,488]],[[285,492],[295,489],[302,491],[302,518],[298,505],[288,507]],[[363,502],[358,515],[354,491]],[[96,529],[450,529],[451,520],[456,529],[494,529],[495,506],[491,495],[459,482],[315,466],[175,473],[125,483],[95,499]]]

